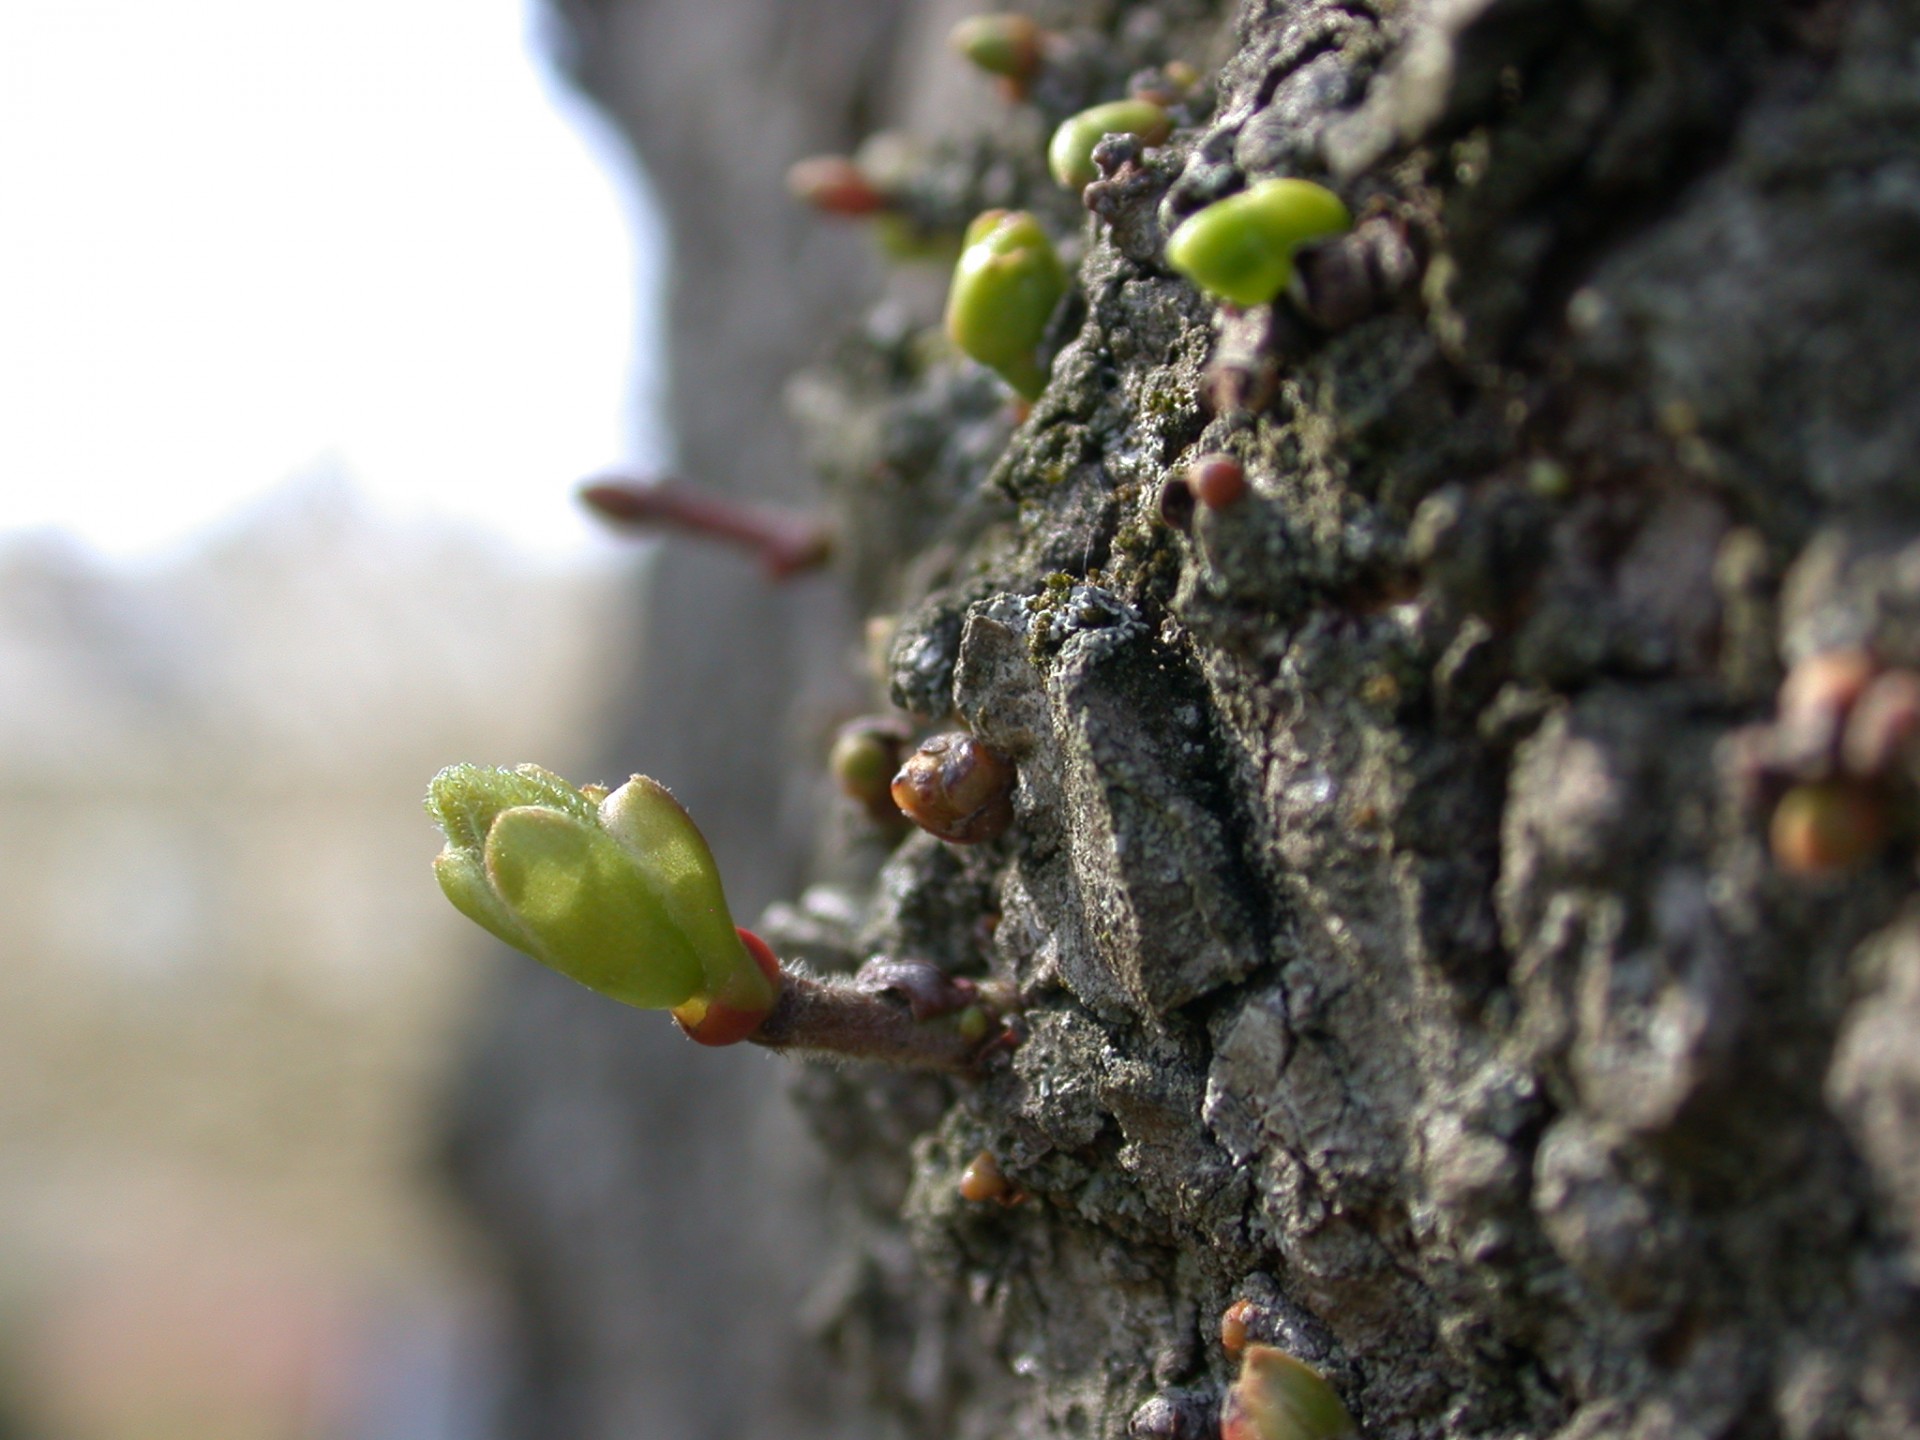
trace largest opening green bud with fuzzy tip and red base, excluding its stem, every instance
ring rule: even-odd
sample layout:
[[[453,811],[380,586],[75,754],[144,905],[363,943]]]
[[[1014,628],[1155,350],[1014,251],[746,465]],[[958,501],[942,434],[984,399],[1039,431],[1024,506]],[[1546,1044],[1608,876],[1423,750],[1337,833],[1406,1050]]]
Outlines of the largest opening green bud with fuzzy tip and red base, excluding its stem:
[[[710,1037],[710,1012],[741,1039],[772,1008],[778,979],[733,927],[705,837],[657,781],[634,776],[609,795],[536,766],[461,764],[434,776],[426,808],[447,837],[440,887],[515,948],[614,1000],[672,1010],[695,1039]]]

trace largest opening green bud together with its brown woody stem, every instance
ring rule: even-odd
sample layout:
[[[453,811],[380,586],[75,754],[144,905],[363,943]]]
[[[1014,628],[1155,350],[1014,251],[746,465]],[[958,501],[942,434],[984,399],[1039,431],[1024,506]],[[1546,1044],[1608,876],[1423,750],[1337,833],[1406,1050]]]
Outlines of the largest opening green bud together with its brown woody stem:
[[[1004,1033],[991,987],[885,960],[845,983],[783,972],[733,925],[707,839],[666,787],[616,791],[549,770],[455,764],[426,810],[440,889],[516,950],[701,1044],[753,1041],[964,1071]]]

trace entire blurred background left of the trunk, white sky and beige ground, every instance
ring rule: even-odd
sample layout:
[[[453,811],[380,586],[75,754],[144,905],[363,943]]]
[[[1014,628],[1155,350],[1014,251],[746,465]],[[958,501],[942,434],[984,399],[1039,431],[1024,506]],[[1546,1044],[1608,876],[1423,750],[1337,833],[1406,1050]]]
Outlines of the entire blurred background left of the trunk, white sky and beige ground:
[[[428,776],[586,778],[660,227],[528,0],[0,8],[0,1436],[467,1440],[492,972]],[[636,336],[639,336],[636,349]]]

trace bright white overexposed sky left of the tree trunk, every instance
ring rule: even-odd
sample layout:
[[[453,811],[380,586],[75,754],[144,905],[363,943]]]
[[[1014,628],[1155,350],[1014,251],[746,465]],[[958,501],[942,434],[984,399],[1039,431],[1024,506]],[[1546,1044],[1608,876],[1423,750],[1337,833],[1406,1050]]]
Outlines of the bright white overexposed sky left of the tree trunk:
[[[330,468],[593,543],[572,482],[662,447],[659,242],[530,4],[0,4],[0,538],[154,551]]]

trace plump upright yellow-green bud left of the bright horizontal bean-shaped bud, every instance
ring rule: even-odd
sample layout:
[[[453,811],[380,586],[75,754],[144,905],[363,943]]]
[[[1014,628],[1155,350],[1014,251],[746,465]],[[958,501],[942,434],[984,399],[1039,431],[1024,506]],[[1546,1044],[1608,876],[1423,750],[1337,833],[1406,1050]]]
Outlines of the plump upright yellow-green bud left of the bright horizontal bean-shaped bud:
[[[947,296],[947,334],[1025,399],[1046,388],[1041,338],[1068,292],[1068,273],[1041,223],[1021,209],[989,209],[966,230]]]

